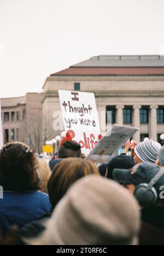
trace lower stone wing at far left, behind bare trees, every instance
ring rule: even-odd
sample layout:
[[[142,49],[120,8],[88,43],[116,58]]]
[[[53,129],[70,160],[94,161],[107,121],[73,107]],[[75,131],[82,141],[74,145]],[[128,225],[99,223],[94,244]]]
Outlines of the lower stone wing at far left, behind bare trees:
[[[36,151],[42,147],[42,94],[2,98],[3,142],[16,140],[29,144]]]

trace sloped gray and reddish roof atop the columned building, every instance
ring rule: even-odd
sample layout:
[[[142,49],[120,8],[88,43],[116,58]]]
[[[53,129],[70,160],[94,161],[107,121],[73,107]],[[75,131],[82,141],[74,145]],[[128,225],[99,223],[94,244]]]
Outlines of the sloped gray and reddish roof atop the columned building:
[[[164,75],[164,56],[100,55],[51,74],[58,75]]]

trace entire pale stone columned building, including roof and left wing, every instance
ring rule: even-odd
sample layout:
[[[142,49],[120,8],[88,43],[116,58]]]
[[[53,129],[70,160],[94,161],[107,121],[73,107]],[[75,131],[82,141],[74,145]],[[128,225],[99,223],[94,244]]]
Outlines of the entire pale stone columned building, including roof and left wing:
[[[51,74],[45,80],[42,94],[27,94],[19,100],[2,100],[4,138],[7,137],[5,130],[12,123],[7,123],[8,114],[5,113],[9,112],[11,120],[13,107],[15,112],[17,109],[26,109],[26,123],[35,121],[37,128],[34,129],[33,124],[30,127],[35,132],[42,131],[42,143],[60,134],[60,131],[54,131],[52,128],[54,112],[61,110],[59,89],[93,92],[97,110],[104,113],[104,125],[108,121],[108,112],[112,111],[112,123],[140,128],[134,135],[137,142],[143,141],[144,137],[161,142],[160,135],[164,133],[163,56],[101,55]],[[36,118],[38,113],[39,119]],[[12,127],[18,129],[18,125],[21,126],[21,123],[16,119]],[[12,128],[9,129],[11,139]],[[30,144],[32,135],[29,129],[26,130],[24,138],[26,137],[25,141]],[[21,139],[21,136],[19,138]]]

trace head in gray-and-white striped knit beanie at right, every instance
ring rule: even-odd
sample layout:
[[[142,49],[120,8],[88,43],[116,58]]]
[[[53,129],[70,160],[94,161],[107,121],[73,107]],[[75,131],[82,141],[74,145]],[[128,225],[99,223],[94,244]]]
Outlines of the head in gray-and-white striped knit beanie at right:
[[[136,148],[134,148],[134,161],[136,164],[142,162],[152,162],[155,164],[157,160],[157,155],[161,149],[161,144],[151,139],[147,139],[140,142]]]

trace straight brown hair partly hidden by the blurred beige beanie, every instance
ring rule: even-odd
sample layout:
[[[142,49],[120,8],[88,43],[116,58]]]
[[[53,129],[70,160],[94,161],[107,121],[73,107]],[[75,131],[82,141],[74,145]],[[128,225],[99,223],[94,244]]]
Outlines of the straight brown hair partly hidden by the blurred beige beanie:
[[[99,174],[96,165],[91,161],[68,158],[57,164],[48,183],[52,210],[75,181],[89,174]]]

